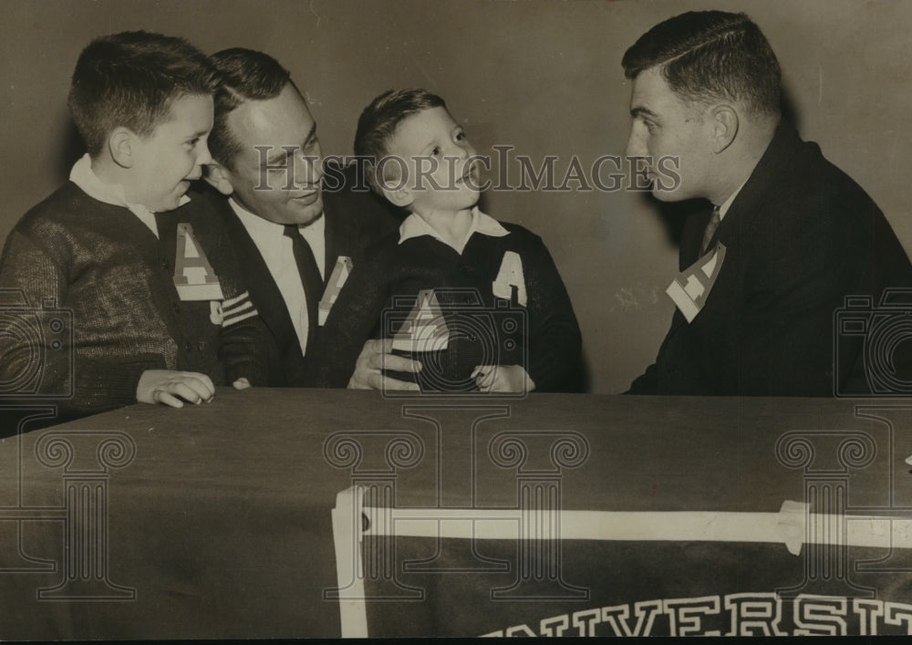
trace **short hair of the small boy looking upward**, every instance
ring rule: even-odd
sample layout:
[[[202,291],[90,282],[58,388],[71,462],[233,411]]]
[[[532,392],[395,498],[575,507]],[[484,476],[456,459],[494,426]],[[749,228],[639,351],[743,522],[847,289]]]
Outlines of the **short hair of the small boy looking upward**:
[[[443,99],[427,89],[390,89],[372,100],[361,112],[355,133],[355,154],[366,159],[364,172],[374,192],[383,194],[375,171],[380,160],[388,155],[387,143],[399,123],[422,110],[446,107]],[[384,170],[390,167],[398,168],[395,163],[384,164]]]

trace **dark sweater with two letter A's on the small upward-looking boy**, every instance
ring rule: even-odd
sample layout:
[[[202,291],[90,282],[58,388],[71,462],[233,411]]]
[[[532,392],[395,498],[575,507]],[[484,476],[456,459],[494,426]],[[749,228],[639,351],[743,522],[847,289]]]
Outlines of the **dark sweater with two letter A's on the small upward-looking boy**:
[[[447,390],[470,382],[476,365],[516,364],[528,372],[536,390],[572,390],[582,341],[554,260],[538,235],[517,224],[500,225],[506,234],[476,231],[461,254],[430,234],[400,242],[400,233],[393,232],[369,247],[320,332],[306,385],[345,387],[364,343],[394,336],[419,293],[433,290],[449,343],[447,349],[416,356],[422,360],[422,387],[430,382],[432,390]],[[502,276],[508,252],[522,262],[523,304],[516,290],[512,296],[503,288],[494,294],[492,285]],[[410,375],[390,376],[407,380]]]

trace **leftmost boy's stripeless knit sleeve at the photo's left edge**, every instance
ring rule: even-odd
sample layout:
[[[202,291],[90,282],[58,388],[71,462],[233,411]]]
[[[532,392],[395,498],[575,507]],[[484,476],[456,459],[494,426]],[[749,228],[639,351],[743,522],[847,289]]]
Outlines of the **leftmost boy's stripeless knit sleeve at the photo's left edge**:
[[[6,296],[4,308],[16,322],[11,322],[7,332],[21,327],[21,322],[22,329],[30,328],[33,333],[7,334],[0,344],[0,379],[21,381],[25,397],[55,401],[67,416],[135,403],[142,372],[165,369],[165,361],[156,354],[103,359],[80,351],[79,325],[91,321],[74,319],[72,308],[67,307],[66,263],[58,263],[65,255],[65,249],[52,255],[16,230],[9,235],[0,259],[0,289]],[[13,306],[11,299],[19,304]],[[62,324],[59,331],[50,327],[55,309],[59,316],[53,318]],[[28,375],[31,377],[26,378]]]

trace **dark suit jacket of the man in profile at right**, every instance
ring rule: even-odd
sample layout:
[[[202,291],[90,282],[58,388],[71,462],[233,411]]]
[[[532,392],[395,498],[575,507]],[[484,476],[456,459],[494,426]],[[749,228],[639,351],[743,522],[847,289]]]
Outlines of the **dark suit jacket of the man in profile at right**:
[[[710,213],[684,225],[682,271]],[[862,335],[834,333],[838,310],[845,296],[876,307],[885,287],[912,287],[912,265],[876,204],[816,144],[781,124],[715,238],[726,255],[704,307],[690,323],[675,310],[656,363],[628,393],[832,396],[864,380]]]

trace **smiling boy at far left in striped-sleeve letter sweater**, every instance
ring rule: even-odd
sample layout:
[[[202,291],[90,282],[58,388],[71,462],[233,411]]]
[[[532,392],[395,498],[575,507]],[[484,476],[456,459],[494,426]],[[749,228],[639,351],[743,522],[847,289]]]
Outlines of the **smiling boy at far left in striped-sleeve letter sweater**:
[[[262,382],[262,323],[230,247],[180,208],[211,161],[213,78],[180,38],[127,32],[83,50],[68,103],[88,153],[0,258],[0,307],[18,317],[0,343],[4,394],[50,398],[68,418]]]

